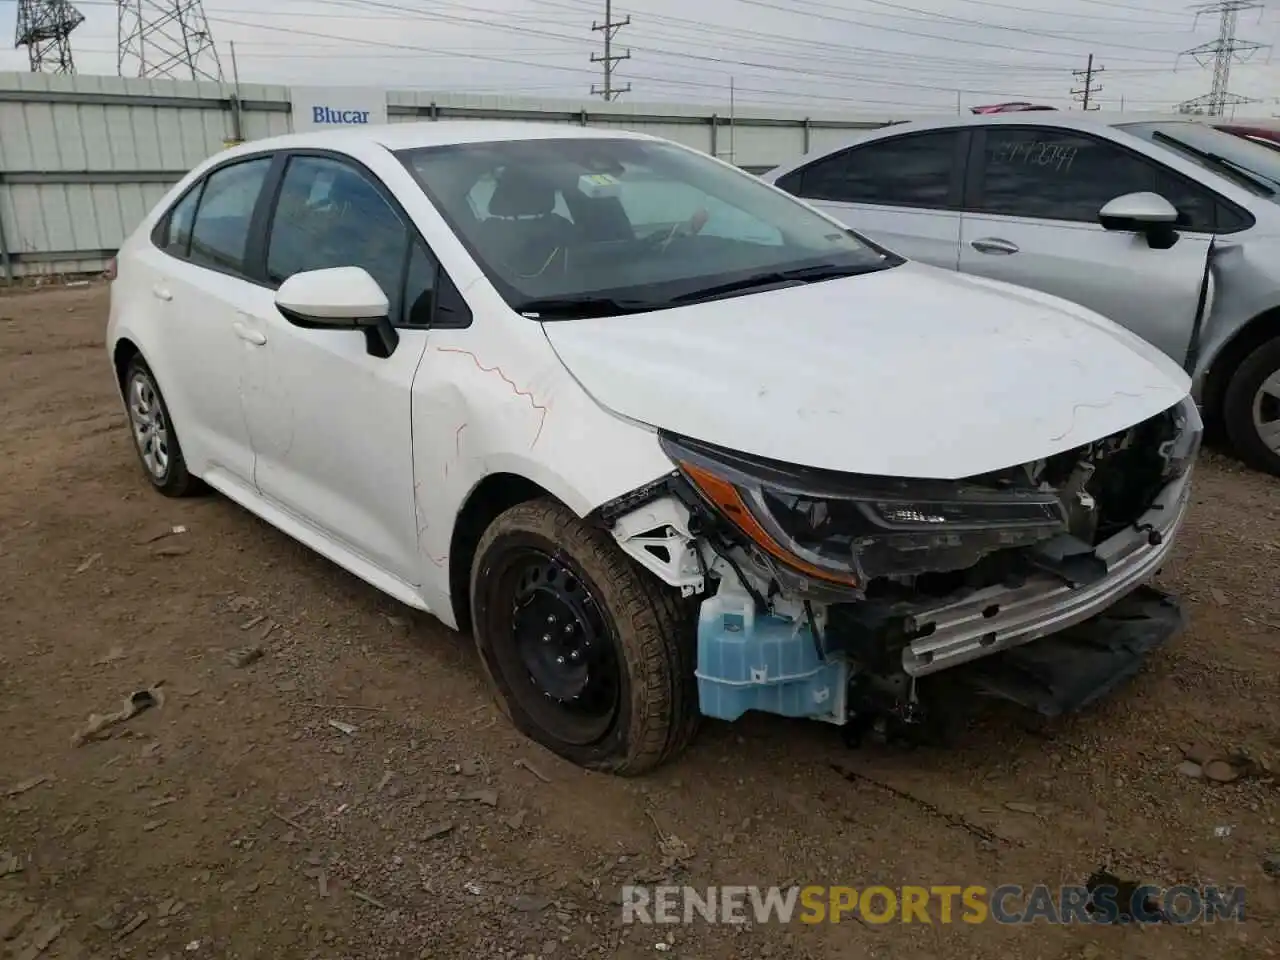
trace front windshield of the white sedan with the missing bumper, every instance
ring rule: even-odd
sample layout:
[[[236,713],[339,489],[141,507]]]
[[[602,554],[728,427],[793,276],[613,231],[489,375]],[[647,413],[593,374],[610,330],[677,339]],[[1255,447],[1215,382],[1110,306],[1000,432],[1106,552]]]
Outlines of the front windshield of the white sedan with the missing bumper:
[[[901,262],[754,177],[662,141],[517,140],[399,156],[507,303],[540,320]]]

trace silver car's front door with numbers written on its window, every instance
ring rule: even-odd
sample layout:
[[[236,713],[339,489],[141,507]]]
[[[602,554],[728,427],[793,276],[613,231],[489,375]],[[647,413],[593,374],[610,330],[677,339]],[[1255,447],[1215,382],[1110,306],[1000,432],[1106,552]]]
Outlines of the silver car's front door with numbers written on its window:
[[[960,232],[961,273],[1064,297],[1187,357],[1219,201],[1115,141],[1050,125],[974,129]],[[1106,230],[1098,211],[1152,191],[1179,211],[1178,242]]]

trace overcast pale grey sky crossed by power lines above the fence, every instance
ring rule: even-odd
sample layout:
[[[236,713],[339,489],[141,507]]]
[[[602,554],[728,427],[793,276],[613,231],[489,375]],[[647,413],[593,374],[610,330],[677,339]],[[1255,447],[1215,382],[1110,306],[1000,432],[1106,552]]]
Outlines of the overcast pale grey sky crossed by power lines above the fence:
[[[166,5],[177,0],[142,0]],[[72,0],[79,73],[116,74],[116,1]],[[129,0],[136,3],[136,0]],[[568,97],[589,105],[605,0],[204,0],[221,69],[242,82]],[[1175,0],[614,0],[621,101],[845,115],[955,111],[1032,100],[1076,108],[1089,54],[1106,110],[1169,110],[1208,91],[1180,51],[1217,37],[1216,13]],[[0,0],[14,36],[17,0]],[[1280,0],[1239,14],[1238,116],[1280,114]],[[1206,60],[1207,63],[1207,60]],[[211,59],[206,61],[212,67]],[[0,50],[0,70],[26,70]],[[136,67],[133,67],[136,76]],[[594,97],[598,100],[598,97]]]

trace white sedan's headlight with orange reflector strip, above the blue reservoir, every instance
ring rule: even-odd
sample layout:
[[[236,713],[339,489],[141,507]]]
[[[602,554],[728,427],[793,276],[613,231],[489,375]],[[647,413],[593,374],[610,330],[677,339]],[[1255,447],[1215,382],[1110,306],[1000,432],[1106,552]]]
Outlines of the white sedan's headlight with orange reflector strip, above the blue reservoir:
[[[861,477],[788,467],[663,438],[699,493],[792,570],[863,586],[893,573],[964,570],[997,549],[1066,530],[1055,493],[964,481]]]

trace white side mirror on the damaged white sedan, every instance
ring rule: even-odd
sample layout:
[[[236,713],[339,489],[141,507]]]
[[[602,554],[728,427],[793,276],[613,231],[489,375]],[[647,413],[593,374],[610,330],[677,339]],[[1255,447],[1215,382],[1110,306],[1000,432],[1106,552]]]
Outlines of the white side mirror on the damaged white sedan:
[[[387,294],[362,266],[293,274],[275,292],[275,308],[296,326],[364,330],[374,356],[389,357],[399,343]]]

